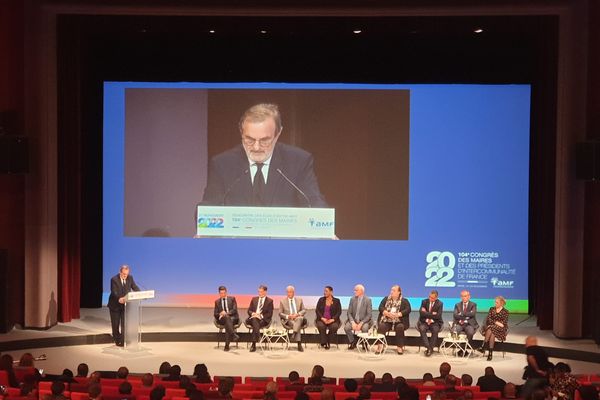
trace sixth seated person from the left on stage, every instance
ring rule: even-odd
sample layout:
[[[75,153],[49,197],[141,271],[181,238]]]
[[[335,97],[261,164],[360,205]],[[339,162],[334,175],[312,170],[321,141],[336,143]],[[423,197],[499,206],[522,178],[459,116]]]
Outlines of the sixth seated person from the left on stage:
[[[384,297],[379,304],[379,325],[377,333],[385,334],[392,329],[396,332],[396,352],[403,354],[404,331],[410,326],[409,322],[410,303],[402,297],[400,285],[394,285],[390,289],[390,295]],[[377,352],[381,351],[381,345]]]

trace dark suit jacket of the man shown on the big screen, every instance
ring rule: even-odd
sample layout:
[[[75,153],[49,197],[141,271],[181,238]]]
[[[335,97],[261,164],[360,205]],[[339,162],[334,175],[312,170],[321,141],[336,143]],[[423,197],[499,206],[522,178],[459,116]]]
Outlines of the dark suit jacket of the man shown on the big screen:
[[[312,207],[328,207],[319,190],[310,153],[284,143],[277,143],[269,164],[265,186],[265,206],[308,207],[306,199],[277,172],[281,171],[310,200]],[[248,171],[248,172],[244,172]],[[252,179],[243,146],[218,154],[208,165],[208,182],[203,205],[251,206]]]

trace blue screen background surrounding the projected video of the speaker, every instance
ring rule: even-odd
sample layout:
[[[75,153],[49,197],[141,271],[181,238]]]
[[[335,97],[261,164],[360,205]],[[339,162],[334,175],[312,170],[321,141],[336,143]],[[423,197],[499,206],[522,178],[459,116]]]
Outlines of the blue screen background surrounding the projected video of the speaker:
[[[124,92],[126,88],[409,89],[409,240],[261,240],[125,237]],[[104,292],[118,266],[164,294],[254,293],[260,283],[283,294],[319,296],[324,285],[351,295],[363,283],[383,296],[394,283],[426,297],[427,254],[497,252],[512,273],[470,287],[474,298],[528,298],[529,85],[356,85],[257,83],[132,83],[104,86]],[[150,161],[151,162],[151,161]],[[199,166],[199,168],[202,166]],[[374,179],[376,179],[374,177]],[[385,190],[382,184],[381,190]],[[200,199],[199,199],[200,200]],[[436,287],[456,298],[463,285]],[[489,275],[487,276],[489,281]]]

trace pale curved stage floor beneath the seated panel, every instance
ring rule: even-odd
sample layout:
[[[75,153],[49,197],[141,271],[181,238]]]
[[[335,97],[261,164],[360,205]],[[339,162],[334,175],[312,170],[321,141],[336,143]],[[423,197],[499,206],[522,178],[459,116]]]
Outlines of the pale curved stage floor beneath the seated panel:
[[[484,368],[491,365],[503,379],[520,384],[525,365],[523,342],[525,337],[535,335],[539,337],[540,345],[546,347],[553,362],[564,360],[571,365],[574,373],[600,372],[600,348],[593,341],[557,339],[549,331],[540,331],[535,326],[535,318],[526,315],[511,316],[507,342],[498,344],[492,362],[486,361],[479,353],[468,360],[446,358],[438,352],[427,358],[422,349],[418,352],[420,338],[414,328],[417,316],[413,314],[413,327],[406,332],[405,354],[396,355],[390,348],[378,359],[368,359],[357,351],[348,351],[342,329],[339,331],[339,349],[335,345],[330,350],[318,349],[312,323],[314,310],[308,312],[308,343],[303,353],[299,353],[295,345],[283,354],[260,350],[250,353],[245,341],[239,343],[239,348],[233,345],[231,351],[225,353],[222,347],[217,349],[212,310],[159,307],[144,309],[143,347],[146,350],[138,353],[112,344],[106,308],[82,309],[81,319],[58,324],[45,331],[13,329],[0,335],[0,350],[12,354],[16,359],[24,351],[34,356],[46,354],[48,359],[39,361],[36,366],[48,373],[60,373],[63,368],[74,370],[79,362],[88,363],[91,371],[111,370],[126,365],[132,372],[157,372],[160,363],[167,360],[181,365],[186,374],[192,373],[196,363],[206,363],[213,375],[286,376],[290,370],[297,370],[300,375],[306,376],[313,365],[321,364],[325,367],[326,375],[333,377],[358,377],[372,370],[377,376],[390,372],[394,376],[415,378],[425,372],[435,375],[439,364],[448,361],[452,365],[452,373],[457,375],[468,373],[477,379],[483,375]],[[240,315],[245,315],[245,310],[240,310]],[[478,320],[482,321],[484,317],[484,314],[480,314]],[[444,314],[445,321],[450,319],[450,313]],[[245,340],[247,330],[243,325],[238,331],[242,340]],[[447,330],[440,336],[446,333]],[[476,334],[475,339],[480,340],[481,335]],[[506,351],[504,357],[502,349]]]

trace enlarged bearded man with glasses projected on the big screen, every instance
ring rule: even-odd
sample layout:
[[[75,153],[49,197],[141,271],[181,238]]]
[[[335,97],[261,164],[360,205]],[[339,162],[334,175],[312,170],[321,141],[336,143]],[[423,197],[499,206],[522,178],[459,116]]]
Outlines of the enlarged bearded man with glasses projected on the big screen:
[[[241,144],[213,157],[202,204],[327,207],[310,153],[278,143],[283,130],[275,104],[257,104],[239,122]]]

